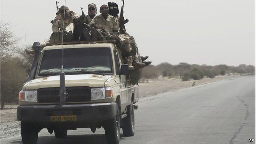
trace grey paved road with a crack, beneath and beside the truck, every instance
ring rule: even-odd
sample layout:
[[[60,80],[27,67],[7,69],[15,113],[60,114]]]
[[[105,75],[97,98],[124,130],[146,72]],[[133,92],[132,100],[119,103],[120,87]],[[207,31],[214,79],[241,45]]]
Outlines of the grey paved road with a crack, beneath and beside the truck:
[[[120,144],[248,144],[255,138],[255,77],[222,80],[141,99],[135,135]],[[21,144],[21,137],[1,144]],[[47,130],[38,144],[106,144],[103,129],[69,130],[55,139]],[[250,142],[254,144],[254,142]]]

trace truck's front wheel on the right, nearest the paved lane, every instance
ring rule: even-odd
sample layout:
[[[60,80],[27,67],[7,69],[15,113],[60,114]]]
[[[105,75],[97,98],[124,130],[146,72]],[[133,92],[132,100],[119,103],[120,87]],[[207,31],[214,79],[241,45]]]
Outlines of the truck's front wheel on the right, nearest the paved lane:
[[[107,144],[119,144],[120,118],[119,118],[118,107],[117,107],[117,114],[114,116],[114,118],[106,121],[104,129],[105,129]]]

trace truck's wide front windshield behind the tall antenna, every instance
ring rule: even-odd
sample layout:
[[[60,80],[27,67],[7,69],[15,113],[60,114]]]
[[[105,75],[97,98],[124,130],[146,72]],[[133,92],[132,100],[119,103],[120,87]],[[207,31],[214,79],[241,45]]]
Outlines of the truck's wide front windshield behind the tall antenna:
[[[59,75],[62,50],[45,50],[38,76]],[[112,73],[110,48],[63,49],[63,71],[66,75],[88,73]]]

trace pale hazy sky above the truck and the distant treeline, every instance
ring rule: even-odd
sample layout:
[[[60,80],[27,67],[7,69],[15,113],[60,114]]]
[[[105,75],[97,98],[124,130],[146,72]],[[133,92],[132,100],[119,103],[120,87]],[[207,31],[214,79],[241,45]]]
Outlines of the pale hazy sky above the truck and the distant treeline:
[[[66,6],[87,14],[109,0],[66,0]],[[111,1],[119,4],[121,0]],[[59,7],[64,0],[59,0]],[[48,39],[56,16],[55,0],[1,0],[1,22],[10,22],[25,45]],[[125,0],[126,30],[141,55],[152,64],[251,64],[255,66],[255,0]]]

